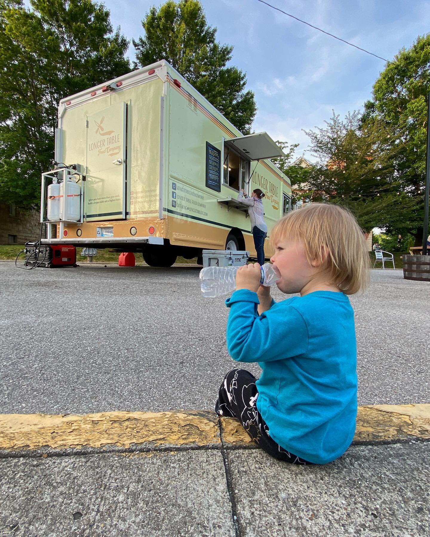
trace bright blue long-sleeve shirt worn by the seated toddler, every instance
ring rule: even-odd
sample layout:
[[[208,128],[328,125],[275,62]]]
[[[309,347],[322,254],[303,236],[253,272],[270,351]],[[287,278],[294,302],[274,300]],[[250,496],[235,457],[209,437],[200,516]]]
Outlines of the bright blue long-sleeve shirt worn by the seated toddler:
[[[316,291],[272,302],[240,289],[226,306],[227,347],[259,362],[257,409],[269,435],[309,462],[337,459],[351,444],[357,415],[354,311],[343,293]]]

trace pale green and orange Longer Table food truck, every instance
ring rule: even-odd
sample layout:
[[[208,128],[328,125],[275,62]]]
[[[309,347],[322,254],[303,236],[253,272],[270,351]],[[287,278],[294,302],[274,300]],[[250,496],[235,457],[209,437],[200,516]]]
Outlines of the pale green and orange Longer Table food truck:
[[[253,257],[237,197],[261,188],[270,236],[291,207],[290,182],[270,162],[280,156],[266,133],[243,136],[161,60],[60,101],[42,243],[142,252],[152,266],[204,249]]]

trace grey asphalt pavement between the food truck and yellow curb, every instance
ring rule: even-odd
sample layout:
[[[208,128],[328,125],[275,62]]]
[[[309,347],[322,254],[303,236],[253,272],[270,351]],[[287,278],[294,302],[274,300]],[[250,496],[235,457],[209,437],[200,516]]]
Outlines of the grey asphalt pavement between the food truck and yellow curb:
[[[212,409],[234,362],[228,310],[200,296],[198,273],[0,263],[1,412]],[[429,299],[428,283],[398,270],[372,271],[368,291],[351,297],[359,404],[430,402]]]

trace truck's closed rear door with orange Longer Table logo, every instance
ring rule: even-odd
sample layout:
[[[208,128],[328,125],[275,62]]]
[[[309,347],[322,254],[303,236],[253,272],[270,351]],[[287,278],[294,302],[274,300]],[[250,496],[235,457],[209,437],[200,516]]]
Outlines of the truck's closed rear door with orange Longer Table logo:
[[[124,102],[87,116],[87,221],[126,217],[126,118]]]

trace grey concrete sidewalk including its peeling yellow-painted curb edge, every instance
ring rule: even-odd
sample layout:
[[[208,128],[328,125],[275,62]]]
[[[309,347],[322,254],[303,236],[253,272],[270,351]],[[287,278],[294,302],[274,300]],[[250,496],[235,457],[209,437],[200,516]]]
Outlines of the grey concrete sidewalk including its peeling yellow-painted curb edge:
[[[360,407],[326,466],[213,412],[0,415],[0,535],[429,535],[430,405]]]

